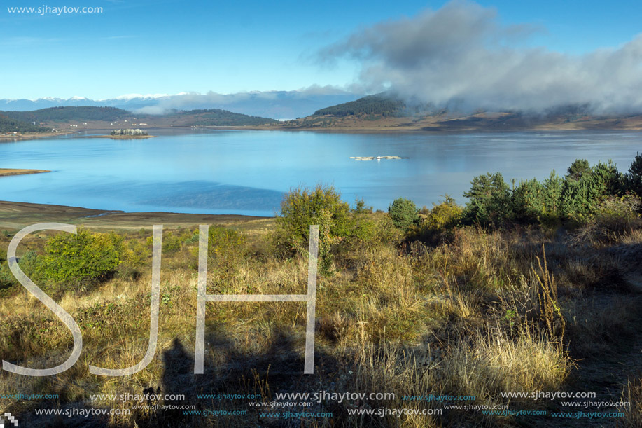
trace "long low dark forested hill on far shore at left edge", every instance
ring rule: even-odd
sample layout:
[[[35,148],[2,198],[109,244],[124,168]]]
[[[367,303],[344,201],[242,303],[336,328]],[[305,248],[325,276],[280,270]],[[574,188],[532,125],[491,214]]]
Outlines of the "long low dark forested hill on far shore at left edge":
[[[112,122],[132,116],[127,110],[115,107],[52,107],[35,111],[0,111],[0,114],[25,122],[69,122],[82,120],[104,120]]]

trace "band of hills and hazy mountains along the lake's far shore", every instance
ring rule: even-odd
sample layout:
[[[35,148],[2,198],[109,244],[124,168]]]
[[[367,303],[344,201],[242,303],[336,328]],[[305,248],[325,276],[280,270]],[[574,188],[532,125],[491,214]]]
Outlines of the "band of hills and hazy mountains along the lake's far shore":
[[[391,92],[358,99],[354,94],[291,92],[246,92],[234,95],[209,93],[178,95],[124,95],[110,100],[87,98],[5,100],[13,110],[3,111],[0,131],[77,132],[131,127],[242,127],[243,129],[323,130],[337,132],[478,132],[521,130],[642,130],[642,114],[604,115],[589,105],[559,106],[547,111],[476,111],[436,108],[414,100],[405,101]],[[336,99],[350,99],[338,104]],[[325,101],[324,101],[325,100]],[[22,104],[20,104],[22,102]],[[30,104],[31,103],[31,104]],[[33,110],[43,103],[79,104]],[[103,104],[92,106],[88,104]],[[119,104],[124,108],[104,106]],[[148,104],[148,105],[145,105]],[[225,106],[216,109],[212,106]],[[31,111],[19,110],[20,106]],[[204,107],[204,108],[199,108]],[[305,107],[305,108],[304,108]],[[235,110],[235,111],[229,111]],[[284,120],[303,111],[306,116]],[[242,111],[267,111],[254,116]],[[293,113],[296,111],[296,113]],[[291,112],[286,114],[287,112]],[[275,120],[274,117],[281,118]]]

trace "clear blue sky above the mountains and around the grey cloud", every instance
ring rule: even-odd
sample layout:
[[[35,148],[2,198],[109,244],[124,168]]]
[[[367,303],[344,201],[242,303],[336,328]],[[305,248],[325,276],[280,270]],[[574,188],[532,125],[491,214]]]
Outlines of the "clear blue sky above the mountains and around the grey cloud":
[[[445,1],[5,0],[0,9],[0,98],[129,93],[232,93],[348,88],[363,78],[354,55],[316,53],[378,22],[415,17]],[[642,2],[479,1],[501,25],[529,24],[522,43],[584,55],[642,32]],[[7,7],[99,6],[100,14],[8,13]]]

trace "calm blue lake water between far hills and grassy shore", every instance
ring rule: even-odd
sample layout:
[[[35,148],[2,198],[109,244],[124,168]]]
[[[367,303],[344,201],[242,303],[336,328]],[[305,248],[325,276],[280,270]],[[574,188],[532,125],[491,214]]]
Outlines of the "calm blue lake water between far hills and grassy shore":
[[[158,134],[154,131],[153,134]],[[470,180],[564,174],[576,158],[613,159],[626,171],[642,132],[325,134],[280,131],[163,132],[153,139],[66,137],[0,141],[0,167],[52,170],[0,178],[0,200],[126,212],[274,215],[284,192],[334,184],[347,202],[386,209],[404,197],[421,207]],[[350,156],[403,156],[356,161]],[[510,181],[509,181],[510,182]]]

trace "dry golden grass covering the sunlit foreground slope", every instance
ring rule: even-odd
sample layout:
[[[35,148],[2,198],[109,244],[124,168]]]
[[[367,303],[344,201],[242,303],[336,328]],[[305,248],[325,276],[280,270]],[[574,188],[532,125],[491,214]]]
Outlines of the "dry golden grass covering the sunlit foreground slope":
[[[240,229],[249,236],[247,251],[234,263],[212,261],[208,293],[305,294],[307,258],[270,255],[270,230],[264,223]],[[510,425],[514,422],[510,417],[471,412],[357,417],[348,410],[354,406],[441,406],[402,399],[428,394],[474,395],[473,403],[478,405],[512,406],[509,399],[501,398],[501,392],[564,387],[574,367],[569,340],[571,349],[582,340],[585,347],[596,347],[602,343],[598,324],[603,329],[624,329],[638,319],[634,312],[618,319],[619,303],[610,301],[602,307],[585,296],[591,289],[582,282],[603,277],[603,272],[587,262],[579,249],[552,242],[550,234],[538,231],[465,228],[436,247],[415,243],[399,249],[370,242],[335,258],[333,273],[320,277],[317,287],[314,376],[301,374],[304,303],[208,303],[206,373],[195,376],[191,372],[197,242],[187,240],[192,230],[175,230],[174,235],[183,242],[175,252],[163,254],[158,349],[147,368],[127,378],[88,373],[89,364],[123,368],[133,366],[145,354],[151,258],[137,268],[137,275],[115,277],[84,294],[68,291],[60,298],[60,305],[83,329],[81,359],[69,371],[47,378],[0,372],[0,393],[60,394],[61,399],[44,403],[0,399],[0,411],[28,415],[34,408],[62,408],[70,403],[127,409],[131,403],[90,402],[89,395],[141,394],[148,387],[183,392],[188,402],[202,408],[242,410],[248,409],[245,402],[199,401],[195,394],[263,393],[265,401],[271,401],[274,392],[326,390],[394,392],[396,399],[316,404],[314,411],[332,411],[335,417],[308,419],[302,426]],[[635,241],[638,235],[622,236],[620,243],[639,242]],[[130,232],[127,240],[146,242],[146,234]],[[624,297],[621,303],[626,306]],[[0,320],[3,359],[32,367],[64,361],[71,334],[27,291],[18,289],[0,298],[0,311],[10,314]],[[639,386],[629,390],[638,394]],[[111,417],[109,424],[246,427],[258,420],[256,413],[248,418],[168,418],[134,410],[130,415]],[[44,423],[32,422],[34,426]],[[265,423],[286,426],[277,422]]]

